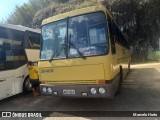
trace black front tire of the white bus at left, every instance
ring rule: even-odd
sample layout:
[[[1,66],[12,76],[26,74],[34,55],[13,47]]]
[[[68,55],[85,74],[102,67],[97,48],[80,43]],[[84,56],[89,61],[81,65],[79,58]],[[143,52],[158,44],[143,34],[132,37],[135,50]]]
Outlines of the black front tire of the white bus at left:
[[[23,93],[27,94],[30,93],[32,90],[32,84],[29,80],[29,76],[27,76],[23,82]]]

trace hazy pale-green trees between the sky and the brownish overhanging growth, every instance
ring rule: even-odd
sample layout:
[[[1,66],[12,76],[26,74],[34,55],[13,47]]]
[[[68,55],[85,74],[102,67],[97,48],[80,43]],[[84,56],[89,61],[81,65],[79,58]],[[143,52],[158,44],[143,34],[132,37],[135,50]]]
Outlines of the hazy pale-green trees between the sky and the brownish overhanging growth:
[[[62,2],[62,0],[59,2]],[[28,3],[22,6],[16,6],[15,11],[10,14],[6,23],[34,27],[32,24],[34,15],[37,11],[46,8],[52,3],[53,0],[29,0]]]

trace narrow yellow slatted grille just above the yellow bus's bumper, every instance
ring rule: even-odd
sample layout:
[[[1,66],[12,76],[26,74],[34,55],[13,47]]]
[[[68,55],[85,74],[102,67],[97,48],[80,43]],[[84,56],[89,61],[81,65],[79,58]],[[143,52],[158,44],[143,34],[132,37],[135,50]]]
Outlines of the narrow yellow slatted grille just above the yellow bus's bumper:
[[[98,84],[97,80],[54,80],[46,81],[48,84]]]

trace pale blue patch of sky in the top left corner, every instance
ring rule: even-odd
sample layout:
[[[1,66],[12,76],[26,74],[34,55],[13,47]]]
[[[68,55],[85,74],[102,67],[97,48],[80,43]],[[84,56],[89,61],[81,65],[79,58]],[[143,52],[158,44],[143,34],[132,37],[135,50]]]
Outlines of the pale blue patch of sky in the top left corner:
[[[0,0],[0,20],[6,19],[11,12],[15,11],[16,6],[27,2],[28,0]]]

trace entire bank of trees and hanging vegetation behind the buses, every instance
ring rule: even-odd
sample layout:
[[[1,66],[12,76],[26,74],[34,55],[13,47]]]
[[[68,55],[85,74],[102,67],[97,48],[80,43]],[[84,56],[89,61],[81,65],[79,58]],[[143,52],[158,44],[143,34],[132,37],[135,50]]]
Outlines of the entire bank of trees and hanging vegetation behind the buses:
[[[105,5],[128,37],[132,62],[159,60],[160,0],[29,0],[1,22],[40,28],[45,18],[95,4]]]

